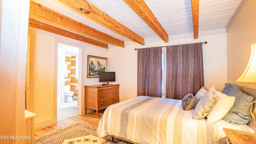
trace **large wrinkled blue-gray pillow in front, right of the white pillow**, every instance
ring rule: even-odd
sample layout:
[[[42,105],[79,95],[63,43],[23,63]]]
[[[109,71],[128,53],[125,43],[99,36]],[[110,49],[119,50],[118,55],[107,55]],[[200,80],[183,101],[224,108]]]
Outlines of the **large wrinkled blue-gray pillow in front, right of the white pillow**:
[[[228,96],[235,96],[235,102],[226,116],[222,118],[231,124],[248,124],[250,122],[250,114],[248,117],[248,107],[253,102],[253,97],[242,92],[235,84],[228,92]]]

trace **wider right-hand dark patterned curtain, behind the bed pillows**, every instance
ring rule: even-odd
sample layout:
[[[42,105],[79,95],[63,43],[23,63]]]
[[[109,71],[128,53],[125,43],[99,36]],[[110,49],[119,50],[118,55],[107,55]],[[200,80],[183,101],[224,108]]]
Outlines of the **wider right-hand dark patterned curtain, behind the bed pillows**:
[[[181,100],[204,86],[202,43],[166,47],[166,98]]]

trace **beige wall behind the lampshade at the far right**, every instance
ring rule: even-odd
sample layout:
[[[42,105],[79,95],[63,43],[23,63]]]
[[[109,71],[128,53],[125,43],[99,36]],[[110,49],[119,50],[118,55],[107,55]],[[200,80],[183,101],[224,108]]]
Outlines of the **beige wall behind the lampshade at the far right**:
[[[256,0],[249,0],[234,24],[227,32],[228,82],[235,83],[244,72],[251,53],[251,44],[256,42]],[[252,83],[236,83],[256,88]]]

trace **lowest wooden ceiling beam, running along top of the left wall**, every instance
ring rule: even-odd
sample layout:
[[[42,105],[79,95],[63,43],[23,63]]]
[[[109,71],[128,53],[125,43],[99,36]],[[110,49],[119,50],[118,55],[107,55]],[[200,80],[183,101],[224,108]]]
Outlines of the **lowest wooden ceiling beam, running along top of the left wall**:
[[[87,38],[85,36],[81,36],[79,34],[75,34],[73,32],[69,32],[67,30],[63,30],[61,28],[57,28],[55,26],[51,26],[50,24],[46,24],[46,23],[43,23],[43,22],[39,22],[37,20],[33,20],[31,18],[29,18],[28,26],[31,26],[33,28],[38,28],[40,30],[44,30],[44,31],[47,31],[47,32],[52,32],[54,34],[58,34],[58,35],[65,36],[65,37],[68,37],[68,38],[72,38],[74,40],[79,40],[81,42],[86,42],[86,43],[92,44],[94,46],[100,46],[102,48],[108,49],[108,44],[105,44],[103,42],[99,42],[97,40],[93,40],[91,38]]]

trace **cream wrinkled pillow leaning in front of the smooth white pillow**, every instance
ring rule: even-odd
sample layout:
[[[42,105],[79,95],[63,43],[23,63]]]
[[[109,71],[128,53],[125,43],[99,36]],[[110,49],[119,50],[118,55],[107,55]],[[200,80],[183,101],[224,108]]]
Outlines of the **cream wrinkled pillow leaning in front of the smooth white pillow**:
[[[207,92],[199,100],[192,118],[197,120],[205,118],[210,113],[212,108],[214,108],[217,101],[218,98],[216,95],[213,94],[213,92]]]

